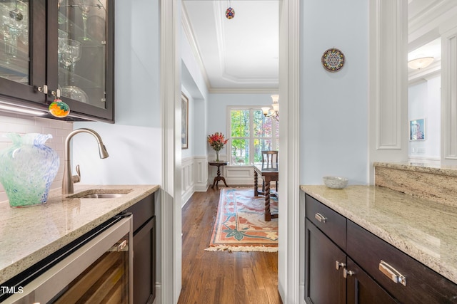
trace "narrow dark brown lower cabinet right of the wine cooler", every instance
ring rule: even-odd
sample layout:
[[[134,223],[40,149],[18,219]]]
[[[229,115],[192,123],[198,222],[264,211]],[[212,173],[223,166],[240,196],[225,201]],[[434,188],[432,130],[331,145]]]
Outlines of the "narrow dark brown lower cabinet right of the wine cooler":
[[[126,211],[134,216],[134,304],[151,304],[156,298],[154,194]]]

